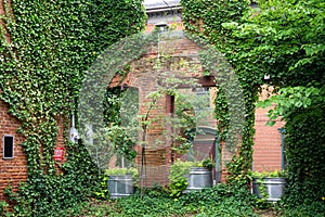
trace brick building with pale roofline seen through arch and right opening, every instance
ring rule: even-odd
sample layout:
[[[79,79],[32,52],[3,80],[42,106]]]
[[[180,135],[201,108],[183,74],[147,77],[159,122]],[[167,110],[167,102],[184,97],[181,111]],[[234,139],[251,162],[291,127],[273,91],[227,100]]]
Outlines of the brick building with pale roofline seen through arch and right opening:
[[[139,113],[144,115],[147,113],[147,103],[150,99],[147,95],[157,91],[161,84],[161,78],[168,76],[183,77],[186,79],[194,79],[198,87],[196,90],[187,89],[193,95],[206,94],[208,95],[207,108],[212,113],[213,99],[216,92],[216,85],[213,77],[205,77],[203,75],[202,64],[198,60],[198,51],[200,48],[192,40],[183,35],[183,25],[181,18],[181,7],[179,1],[145,1],[148,20],[146,23],[146,33],[154,29],[166,30],[166,27],[172,28],[169,37],[168,34],[161,34],[158,46],[150,49],[151,51],[140,60],[131,63],[130,73],[123,79],[119,77],[114,78],[110,87],[120,85],[135,88],[139,91]],[[168,56],[168,58],[166,58]],[[159,67],[156,67],[157,60],[159,60]],[[162,65],[162,67],[161,67]],[[164,86],[164,85],[162,85]],[[179,89],[184,91],[186,85]],[[261,98],[264,98],[269,92],[264,90]],[[187,97],[190,98],[188,94]],[[155,110],[151,111],[150,118],[154,119],[153,126],[148,129],[146,135],[146,151],[145,151],[145,170],[144,179],[148,186],[158,183],[168,183],[169,166],[176,158],[182,159],[203,159],[210,157],[216,162],[214,180],[218,182],[224,180],[226,175],[225,162],[231,159],[231,152],[218,142],[218,135],[216,133],[217,122],[211,118],[210,114],[207,119],[199,124],[200,133],[196,135],[193,141],[193,149],[191,154],[177,155],[172,153],[172,139],[166,137],[166,131],[172,130],[170,126],[164,123],[164,116],[172,114],[174,111],[174,102],[172,97],[166,94],[158,102]],[[257,108],[256,111],[256,136],[253,146],[253,170],[280,170],[284,167],[284,149],[283,135],[281,128],[284,126],[283,122],[276,120],[273,127],[265,126],[268,122],[268,110]],[[160,141],[160,142],[157,142]],[[221,150],[220,152],[217,150]],[[138,150],[138,163],[140,164],[141,151]],[[188,157],[191,155],[191,157]]]

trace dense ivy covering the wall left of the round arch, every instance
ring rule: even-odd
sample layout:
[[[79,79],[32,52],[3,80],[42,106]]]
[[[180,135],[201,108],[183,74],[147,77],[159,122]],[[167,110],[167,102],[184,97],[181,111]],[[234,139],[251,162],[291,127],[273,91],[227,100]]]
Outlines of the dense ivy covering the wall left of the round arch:
[[[0,98],[22,123],[28,179],[14,210],[63,215],[98,188],[99,171],[82,142],[67,143],[67,159],[53,161],[57,122],[65,135],[86,69],[107,46],[144,27],[141,1],[8,1],[0,43]],[[6,38],[10,37],[10,40]]]

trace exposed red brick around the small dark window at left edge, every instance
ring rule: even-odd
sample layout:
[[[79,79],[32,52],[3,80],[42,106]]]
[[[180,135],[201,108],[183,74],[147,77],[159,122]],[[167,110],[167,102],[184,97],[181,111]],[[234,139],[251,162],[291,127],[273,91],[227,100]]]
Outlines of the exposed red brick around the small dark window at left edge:
[[[11,1],[9,0],[8,3],[10,8]],[[0,0],[0,15],[3,14],[3,1]],[[0,23],[0,25],[3,26],[4,24]],[[6,42],[10,43],[10,36],[5,36]],[[2,90],[0,89],[1,94]],[[27,159],[21,145],[26,138],[17,131],[20,127],[20,120],[9,113],[9,105],[0,100],[0,201],[4,200],[4,189],[12,187],[13,191],[16,191],[20,182],[25,181],[28,176]],[[63,148],[64,142],[64,118],[57,117],[55,148]],[[56,163],[61,164],[62,162]]]

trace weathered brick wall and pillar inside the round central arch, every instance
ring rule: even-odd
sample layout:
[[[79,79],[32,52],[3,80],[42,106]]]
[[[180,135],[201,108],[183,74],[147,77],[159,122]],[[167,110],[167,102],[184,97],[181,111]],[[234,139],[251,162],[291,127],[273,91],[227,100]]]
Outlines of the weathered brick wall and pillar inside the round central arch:
[[[177,41],[177,42],[176,42]],[[128,76],[117,82],[118,78],[114,79],[115,85],[119,84],[139,90],[139,113],[145,115],[148,111],[147,95],[166,82],[166,78],[171,75],[182,77],[181,74],[195,77],[198,79],[202,73],[202,66],[197,59],[198,47],[183,36],[176,36],[171,40],[161,40],[159,42],[159,54],[165,54],[159,58],[159,68],[157,66],[158,48],[154,47],[150,53],[146,53],[139,61],[132,62],[131,69]],[[166,58],[167,54],[172,56]],[[193,71],[194,69],[194,71]],[[188,78],[187,78],[188,79]],[[191,78],[192,79],[192,78]],[[112,84],[110,84],[112,87]],[[169,166],[171,164],[171,141],[166,136],[168,127],[165,123],[165,117],[171,113],[171,104],[169,95],[160,98],[155,104],[155,108],[150,112],[148,119],[155,122],[148,127],[146,133],[146,151],[145,151],[145,174],[147,183],[145,186],[168,183]],[[160,143],[157,141],[161,141]],[[138,148],[136,163],[141,164],[141,148]]]

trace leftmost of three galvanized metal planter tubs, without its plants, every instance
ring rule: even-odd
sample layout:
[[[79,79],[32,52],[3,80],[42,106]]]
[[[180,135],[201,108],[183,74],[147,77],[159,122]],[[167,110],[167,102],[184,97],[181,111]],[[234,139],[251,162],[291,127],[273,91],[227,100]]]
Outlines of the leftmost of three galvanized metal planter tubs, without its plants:
[[[134,184],[131,175],[108,176],[107,187],[110,199],[129,196],[134,193]]]

